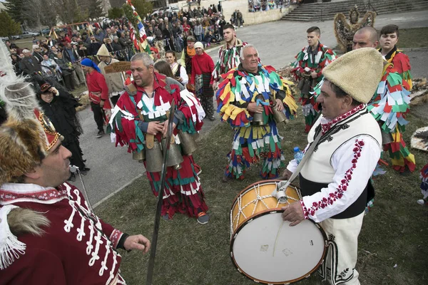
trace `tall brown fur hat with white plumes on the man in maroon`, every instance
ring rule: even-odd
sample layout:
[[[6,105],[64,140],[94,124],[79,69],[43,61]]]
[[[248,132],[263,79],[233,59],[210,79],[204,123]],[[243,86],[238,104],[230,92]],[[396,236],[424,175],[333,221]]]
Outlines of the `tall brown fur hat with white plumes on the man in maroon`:
[[[0,43],[0,100],[7,120],[0,125],[0,185],[17,182],[48,155],[61,135],[42,113],[31,83],[17,77],[9,51]]]

